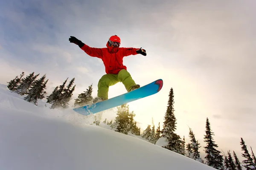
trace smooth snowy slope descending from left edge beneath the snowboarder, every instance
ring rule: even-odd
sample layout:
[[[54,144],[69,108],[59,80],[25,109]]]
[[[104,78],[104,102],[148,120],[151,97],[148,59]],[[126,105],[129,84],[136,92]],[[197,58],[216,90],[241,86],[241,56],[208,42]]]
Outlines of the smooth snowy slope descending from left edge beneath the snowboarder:
[[[89,125],[72,109],[50,110],[44,104],[35,106],[0,85],[0,170],[214,170],[133,136]]]

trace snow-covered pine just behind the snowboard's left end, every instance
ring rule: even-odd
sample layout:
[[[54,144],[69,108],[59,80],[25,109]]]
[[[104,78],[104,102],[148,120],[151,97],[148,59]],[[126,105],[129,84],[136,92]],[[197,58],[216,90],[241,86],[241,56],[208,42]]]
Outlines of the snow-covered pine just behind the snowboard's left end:
[[[74,107],[81,107],[84,105],[89,105],[93,101],[93,85],[91,84],[84,93],[78,95],[78,98],[75,99]]]

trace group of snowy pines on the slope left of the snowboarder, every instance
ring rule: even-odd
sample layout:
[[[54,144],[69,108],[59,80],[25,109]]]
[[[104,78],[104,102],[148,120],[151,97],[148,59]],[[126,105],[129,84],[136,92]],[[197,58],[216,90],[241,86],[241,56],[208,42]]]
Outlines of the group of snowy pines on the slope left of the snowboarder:
[[[46,80],[46,74],[44,74],[40,79],[37,79],[39,74],[35,75],[35,72],[30,73],[24,77],[24,72],[20,76],[16,76],[11,81],[7,82],[7,87],[10,91],[13,91],[21,96],[25,95],[24,100],[32,102],[38,105],[38,99],[47,99],[47,103],[51,104],[51,109],[55,108],[68,108],[69,102],[72,99],[73,92],[75,91],[76,85],[73,85],[75,78],[71,79],[67,84],[67,79],[64,82],[55,87],[52,93],[47,96],[46,85],[48,79]],[[74,105],[72,107],[83,106],[90,104],[93,101],[92,97],[93,88],[92,85],[83,91],[83,93],[78,95],[75,99]]]

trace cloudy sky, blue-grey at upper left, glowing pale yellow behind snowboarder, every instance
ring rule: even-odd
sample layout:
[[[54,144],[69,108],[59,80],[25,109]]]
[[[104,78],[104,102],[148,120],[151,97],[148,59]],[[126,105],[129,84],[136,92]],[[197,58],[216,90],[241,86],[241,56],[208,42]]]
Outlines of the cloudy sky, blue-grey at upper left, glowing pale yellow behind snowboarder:
[[[0,83],[35,71],[47,74],[49,93],[75,77],[74,98],[90,84],[96,96],[104,65],[68,38],[104,48],[116,34],[122,47],[147,51],[124,58],[135,82],[164,82],[158,94],[130,103],[143,128],[152,118],[163,124],[173,88],[180,136],[191,127],[204,147],[208,117],[219,150],[241,155],[240,137],[256,150],[255,8],[254,0],[1,0]],[[118,83],[109,97],[125,92]]]

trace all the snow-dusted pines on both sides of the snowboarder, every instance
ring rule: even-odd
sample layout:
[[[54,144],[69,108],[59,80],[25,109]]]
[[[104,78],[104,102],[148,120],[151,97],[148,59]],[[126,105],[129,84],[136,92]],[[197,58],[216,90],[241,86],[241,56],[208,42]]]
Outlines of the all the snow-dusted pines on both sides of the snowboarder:
[[[75,91],[76,85],[74,84],[75,78],[71,79],[67,84],[67,79],[64,82],[55,87],[52,93],[47,96],[45,91],[48,79],[46,79],[46,74],[41,78],[38,78],[39,74],[32,72],[31,74],[24,77],[24,72],[20,76],[16,76],[11,81],[7,82],[7,87],[10,91],[13,91],[21,96],[25,95],[24,100],[32,102],[35,105],[38,104],[38,99],[44,99],[46,97],[47,103],[51,104],[51,109],[55,108],[68,108],[69,102],[72,99],[73,92]],[[38,78],[38,79],[37,79]],[[67,85],[66,85],[67,84]],[[79,107],[87,105],[93,102],[93,87],[92,85],[88,86],[86,91],[78,95],[78,98],[75,99],[74,105],[72,107]],[[154,122],[152,119],[152,127],[148,125],[147,128],[141,133],[141,129],[137,126],[137,122],[134,120],[134,112],[129,111],[129,106],[127,104],[117,107],[117,113],[115,121],[108,122],[106,119],[103,123],[111,126],[112,130],[115,130],[119,133],[124,134],[134,134],[141,136],[148,142],[152,144],[158,144],[162,147],[172,150],[176,153],[187,156],[191,159],[199,161],[201,163],[207,164],[211,167],[214,167],[218,170],[242,170],[242,167],[246,170],[256,170],[256,158],[253,153],[252,148],[250,147],[251,154],[247,150],[247,146],[243,138],[241,138],[241,150],[244,153],[241,155],[244,157],[244,160],[240,163],[236,153],[233,151],[233,156],[230,153],[230,150],[227,151],[227,156],[221,154],[217,150],[218,145],[215,144],[213,139],[214,133],[210,128],[209,119],[206,119],[206,130],[204,135],[204,151],[206,153],[205,161],[201,158],[200,152],[198,151],[201,147],[198,143],[198,140],[195,138],[195,134],[192,129],[189,127],[189,143],[186,144],[185,137],[183,139],[175,133],[176,130],[176,121],[174,114],[174,91],[173,88],[170,89],[168,105],[166,113],[164,116],[163,128],[160,128],[160,122],[157,129],[155,130]],[[96,125],[99,125],[99,120],[93,122]]]

